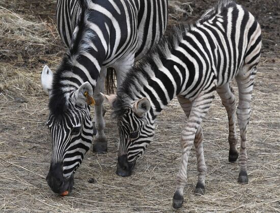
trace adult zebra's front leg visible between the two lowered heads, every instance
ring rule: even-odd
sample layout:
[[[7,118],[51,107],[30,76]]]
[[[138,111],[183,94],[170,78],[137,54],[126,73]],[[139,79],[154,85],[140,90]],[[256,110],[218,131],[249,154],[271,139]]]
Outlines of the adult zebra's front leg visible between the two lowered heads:
[[[106,73],[107,69],[102,67],[94,89],[96,136],[93,141],[93,151],[96,151],[96,153],[105,153],[107,151],[107,138],[104,133],[105,121],[102,114],[103,97],[100,94],[104,89]]]

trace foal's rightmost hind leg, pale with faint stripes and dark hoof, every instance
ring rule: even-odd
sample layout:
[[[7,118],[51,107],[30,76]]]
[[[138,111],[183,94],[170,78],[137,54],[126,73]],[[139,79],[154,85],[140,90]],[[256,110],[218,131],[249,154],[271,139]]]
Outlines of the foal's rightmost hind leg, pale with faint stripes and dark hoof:
[[[247,184],[247,153],[246,153],[246,130],[250,119],[250,100],[253,91],[254,78],[257,69],[253,67],[249,69],[249,66],[243,66],[236,76],[239,93],[239,104],[236,110],[237,120],[240,129],[240,157],[239,166],[240,172],[238,182]]]

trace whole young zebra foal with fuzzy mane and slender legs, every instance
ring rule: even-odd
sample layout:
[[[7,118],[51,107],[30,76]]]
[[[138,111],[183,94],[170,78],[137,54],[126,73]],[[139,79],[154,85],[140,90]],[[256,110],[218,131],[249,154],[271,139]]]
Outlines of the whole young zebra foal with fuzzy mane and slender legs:
[[[154,135],[160,111],[175,97],[188,122],[181,134],[182,160],[176,181],[173,206],[183,203],[188,156],[194,143],[198,160],[195,193],[205,190],[200,126],[217,90],[229,117],[229,161],[238,158],[235,129],[235,99],[229,82],[235,78],[239,90],[237,118],[240,128],[240,173],[238,182],[247,183],[246,128],[249,122],[254,78],[260,59],[261,29],[245,8],[233,1],[220,1],[191,26],[181,25],[176,33],[140,60],[128,73],[118,96],[105,96],[118,118],[120,149],[117,173],[131,174]]]

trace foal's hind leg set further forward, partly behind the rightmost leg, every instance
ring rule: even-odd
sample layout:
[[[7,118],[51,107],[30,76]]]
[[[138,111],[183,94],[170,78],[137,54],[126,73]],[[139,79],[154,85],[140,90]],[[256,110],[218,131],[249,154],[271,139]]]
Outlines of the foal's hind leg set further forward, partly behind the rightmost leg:
[[[229,144],[230,144],[230,152],[229,152],[229,162],[234,163],[238,158],[237,151],[237,136],[236,136],[236,125],[235,125],[235,98],[233,92],[231,90],[230,84],[224,84],[217,88],[217,93],[221,98],[222,105],[225,106],[228,112],[229,118]]]

